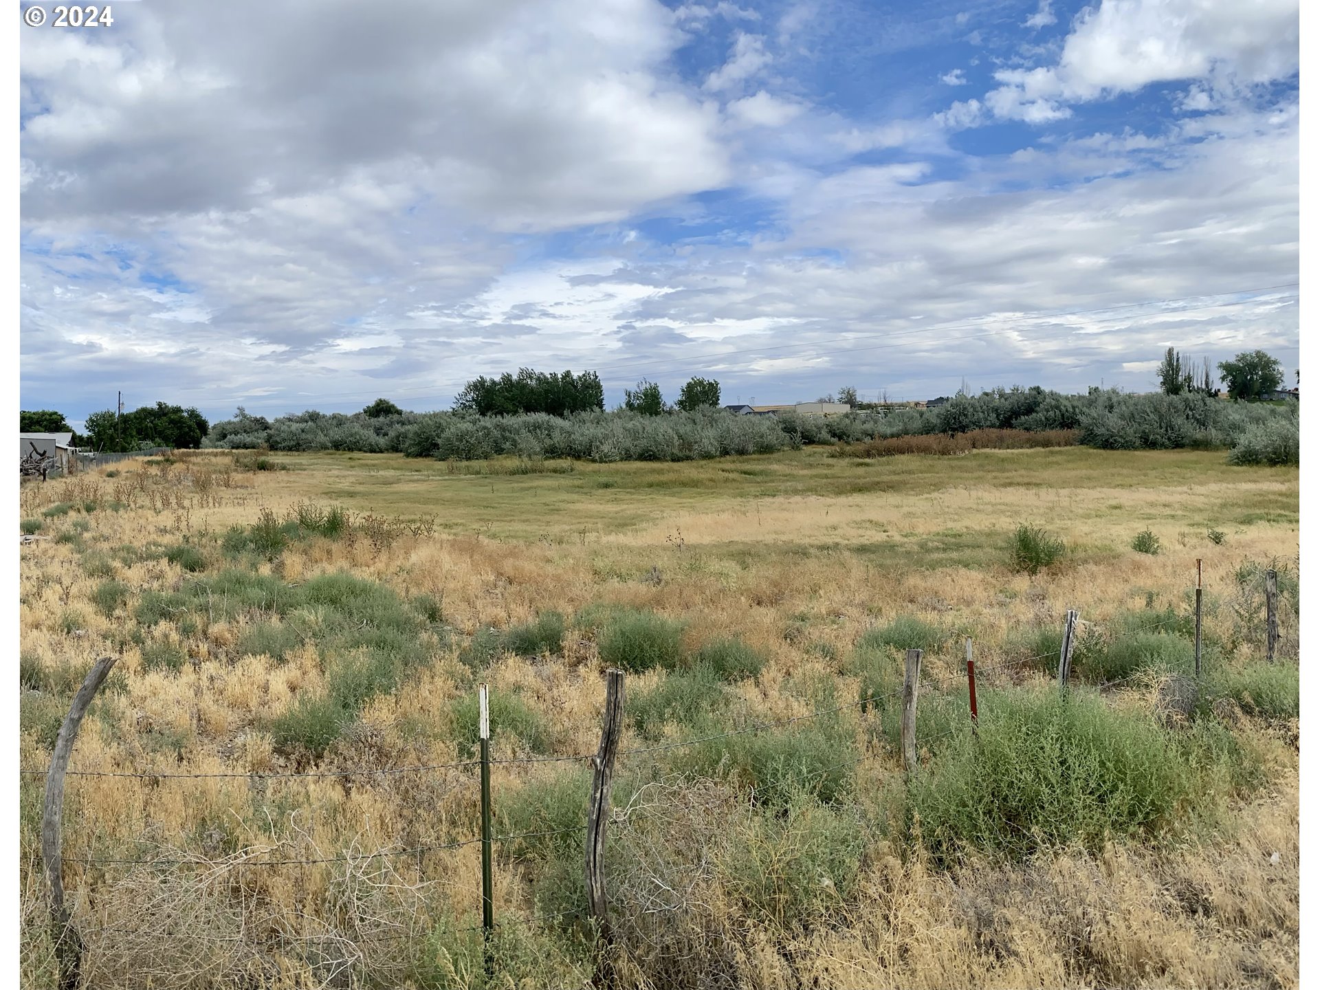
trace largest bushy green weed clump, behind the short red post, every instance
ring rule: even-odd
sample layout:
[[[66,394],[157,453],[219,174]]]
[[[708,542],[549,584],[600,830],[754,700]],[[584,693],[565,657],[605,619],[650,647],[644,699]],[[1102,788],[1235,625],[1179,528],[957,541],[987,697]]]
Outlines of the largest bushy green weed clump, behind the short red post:
[[[1247,754],[1212,723],[1175,735],[1080,690],[983,697],[978,735],[952,737],[909,791],[921,841],[945,865],[964,850],[1022,858],[1154,837],[1253,775]]]

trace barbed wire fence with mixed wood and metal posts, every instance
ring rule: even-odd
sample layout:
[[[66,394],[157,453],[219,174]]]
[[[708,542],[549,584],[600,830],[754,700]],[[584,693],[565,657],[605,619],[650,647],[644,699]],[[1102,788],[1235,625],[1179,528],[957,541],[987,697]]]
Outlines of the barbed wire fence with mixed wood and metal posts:
[[[1200,561],[1197,562],[1200,564]],[[1200,568],[1199,568],[1200,572]],[[1274,614],[1274,603],[1270,601],[1274,594],[1274,582],[1267,577],[1267,606],[1270,614]],[[1197,585],[1200,585],[1200,573],[1197,574]],[[1200,587],[1197,587],[1200,591]],[[1166,628],[1170,626],[1185,627],[1191,620],[1195,622],[1196,630],[1196,663],[1195,675],[1199,678],[1203,671],[1201,664],[1201,595],[1196,595],[1196,606],[1193,616],[1168,616],[1158,620],[1140,623],[1143,630],[1156,630]],[[735,729],[701,734],[685,739],[659,742],[647,746],[638,746],[634,748],[622,750],[619,748],[619,741],[623,733],[622,718],[605,719],[602,726],[602,741],[601,748],[595,754],[572,754],[572,755],[528,755],[528,756],[510,756],[510,758],[491,758],[488,746],[482,744],[482,756],[479,759],[462,759],[446,763],[425,763],[416,766],[403,766],[403,767],[351,767],[341,768],[333,771],[214,771],[214,772],[173,772],[173,771],[125,771],[125,770],[67,770],[69,756],[73,750],[73,743],[78,733],[78,725],[82,715],[86,713],[87,706],[91,702],[92,696],[96,689],[104,681],[114,665],[115,660],[112,657],[106,657],[92,668],[92,672],[87,675],[86,681],[79,688],[78,694],[70,708],[69,715],[66,717],[59,735],[57,738],[54,754],[48,771],[40,771],[33,768],[22,768],[20,774],[26,777],[45,776],[46,791],[45,791],[45,807],[42,814],[42,866],[44,873],[50,887],[51,894],[51,936],[55,956],[58,960],[59,969],[59,986],[61,990],[75,990],[79,981],[79,966],[81,956],[84,948],[84,939],[87,936],[94,936],[98,940],[104,939],[153,939],[160,937],[164,932],[158,925],[153,927],[153,916],[147,912],[140,919],[141,925],[132,924],[108,924],[106,919],[102,919],[100,924],[95,932],[79,931],[71,913],[63,906],[63,888],[62,888],[62,875],[63,866],[77,865],[84,870],[106,870],[110,867],[132,867],[135,870],[143,871],[164,871],[166,869],[193,869],[199,874],[209,875],[211,878],[223,876],[228,874],[238,874],[242,871],[252,870],[267,870],[275,867],[308,867],[308,866],[327,866],[327,865],[342,865],[350,870],[362,870],[364,863],[381,863],[385,861],[393,862],[399,859],[414,858],[421,861],[422,857],[433,853],[457,851],[470,846],[480,846],[483,854],[483,863],[490,863],[492,858],[492,849],[499,846],[507,846],[508,843],[528,841],[528,840],[552,840],[570,834],[583,834],[585,836],[585,849],[586,849],[586,866],[583,875],[586,879],[587,890],[593,887],[593,883],[599,886],[599,890],[605,890],[603,886],[603,857],[601,855],[603,850],[605,837],[609,829],[622,829],[631,826],[632,816],[638,810],[638,797],[651,787],[652,783],[643,784],[642,789],[634,795],[628,804],[623,809],[612,808],[610,800],[610,779],[614,771],[615,762],[622,758],[624,762],[631,760],[653,760],[660,754],[668,754],[678,750],[689,750],[697,746],[708,746],[713,743],[719,743],[722,741],[734,739],[738,737],[748,737],[759,733],[784,729],[788,726],[795,726],[805,722],[814,722],[818,719],[825,719],[830,717],[838,717],[842,713],[859,710],[865,715],[871,711],[876,715],[876,722],[883,721],[884,715],[892,715],[892,702],[900,702],[900,725],[899,725],[899,752],[903,759],[903,768],[907,775],[919,772],[919,764],[916,759],[916,746],[920,742],[923,747],[929,747],[932,743],[942,742],[952,738],[956,734],[969,734],[975,735],[979,713],[977,710],[977,685],[981,678],[990,678],[998,682],[998,685],[1014,685],[1027,673],[1040,673],[1041,668],[1047,663],[1056,663],[1056,671],[1059,677],[1060,693],[1067,697],[1069,692],[1069,673],[1072,652],[1076,647],[1076,630],[1078,627],[1080,616],[1074,611],[1069,611],[1064,624],[1064,635],[1061,640],[1061,647],[1057,653],[1045,652],[1036,653],[1031,656],[1023,656],[1016,659],[1005,659],[995,664],[982,665],[977,664],[973,657],[973,642],[966,639],[966,659],[962,664],[961,676],[966,678],[969,713],[968,719],[961,723],[954,723],[952,727],[946,729],[939,734],[927,733],[920,741],[916,738],[916,709],[919,698],[919,684],[920,684],[920,649],[909,649],[907,652],[907,664],[904,669],[904,684],[903,688],[886,690],[879,693],[866,694],[857,698],[855,701],[847,701],[836,705],[828,705],[824,708],[816,708],[809,711],[787,715],[783,718],[764,719],[759,722],[752,722],[750,725],[742,725]],[[1270,643],[1267,647],[1274,645],[1274,639],[1276,639],[1276,624],[1271,624],[1270,628]],[[1272,651],[1271,651],[1272,652]],[[1271,657],[1272,659],[1272,657]],[[1094,686],[1100,690],[1113,690],[1126,684],[1131,684],[1143,677],[1148,677],[1143,672],[1138,671],[1129,673],[1123,677],[1100,681]],[[607,697],[606,697],[606,711],[618,710],[622,711],[622,692],[623,692],[623,672],[622,671],[609,671],[607,672]],[[945,697],[952,697],[950,692],[944,692]],[[486,717],[486,685],[480,686],[480,700],[482,700],[482,718],[479,725],[479,741],[482,743],[488,743],[490,741],[490,725]],[[876,756],[875,752],[867,751],[863,746],[861,751],[850,755],[849,758],[840,760],[834,764],[816,766],[812,772],[816,775],[825,775],[843,767],[857,767],[862,762]],[[399,847],[384,847],[376,850],[362,850],[358,847],[351,847],[337,855],[288,855],[281,854],[282,849],[288,849],[290,842],[275,841],[261,846],[248,846],[236,851],[232,851],[224,857],[203,855],[199,853],[187,851],[173,851],[168,855],[149,855],[149,857],[98,857],[98,855],[83,855],[83,857],[63,857],[61,849],[61,807],[63,800],[63,784],[66,777],[87,777],[87,779],[136,779],[136,780],[150,780],[150,781],[198,781],[198,780],[248,780],[253,783],[269,781],[269,780],[317,780],[317,779],[338,779],[338,780],[351,780],[351,779],[366,779],[366,780],[380,780],[389,781],[391,779],[397,779],[403,775],[424,775],[424,774],[441,774],[451,771],[480,771],[482,781],[488,781],[490,768],[494,766],[503,767],[517,767],[527,764],[556,764],[556,763],[577,763],[589,766],[593,771],[593,801],[605,809],[605,814],[599,821],[594,821],[590,810],[587,813],[587,820],[582,825],[573,825],[568,828],[554,828],[554,829],[533,829],[523,832],[508,832],[504,834],[494,834],[490,803],[483,801],[482,804],[482,821],[480,821],[480,834],[454,840],[449,842],[433,842],[433,843],[420,843],[412,846],[399,846]],[[469,784],[477,783],[477,775],[467,779]],[[488,785],[488,784],[487,784]],[[160,849],[160,847],[158,847]],[[393,869],[393,867],[389,867]],[[595,875],[593,875],[593,873]],[[488,948],[490,939],[496,928],[494,920],[494,883],[491,870],[483,870],[482,878],[482,903],[483,903],[483,923],[479,925],[466,925],[461,928],[447,928],[450,935],[477,935],[482,933]],[[475,892],[471,888],[470,892]],[[552,921],[560,921],[565,917],[573,917],[583,923],[589,929],[594,931],[601,940],[598,960],[599,965],[607,965],[607,953],[605,949],[609,942],[609,915],[606,903],[590,903],[590,898],[583,899],[583,904],[578,908],[572,908],[566,911],[557,912],[532,912],[529,915],[520,915],[516,911],[506,909],[500,916],[500,925],[507,924],[525,924],[525,925],[543,925]],[[660,909],[660,908],[653,908]],[[309,921],[315,921],[315,919],[305,919]],[[268,924],[264,931],[255,931],[253,928],[243,924],[244,919],[238,919],[240,932],[238,933],[222,933],[222,932],[195,932],[190,931],[190,939],[199,939],[209,942],[222,942],[222,944],[235,944],[248,948],[256,948],[259,945],[279,945],[279,944],[319,944],[325,941],[341,941],[346,945],[345,952],[345,965],[354,965],[354,960],[360,961],[360,949],[351,948],[347,942],[383,942],[397,940],[400,937],[411,937],[414,935],[412,927],[404,924],[403,921],[381,921],[371,931],[355,931],[351,935],[322,931],[315,935],[298,933],[290,931],[290,925],[281,923],[280,919],[275,919],[273,923]],[[350,958],[351,957],[351,958]]]

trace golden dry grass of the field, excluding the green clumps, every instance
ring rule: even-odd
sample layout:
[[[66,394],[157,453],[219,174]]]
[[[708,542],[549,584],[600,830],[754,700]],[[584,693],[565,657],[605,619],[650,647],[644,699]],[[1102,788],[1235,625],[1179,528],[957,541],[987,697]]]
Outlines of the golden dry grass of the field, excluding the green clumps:
[[[317,483],[330,488],[335,475]],[[66,884],[88,945],[90,985],[140,986],[149,975],[160,986],[198,987],[484,986],[479,940],[458,931],[479,921],[479,847],[364,858],[477,834],[470,770],[372,771],[466,759],[455,702],[470,697],[477,672],[462,652],[484,627],[540,628],[550,609],[570,616],[558,655],[540,645],[525,655],[496,651],[479,676],[539,721],[545,752],[585,754],[599,733],[601,656],[598,638],[572,616],[602,602],[681,620],[680,647],[692,655],[737,635],[763,665],[722,684],[721,717],[785,719],[820,705],[810,685],[858,697],[861,672],[846,661],[875,627],[913,619],[940,632],[924,660],[933,700],[962,682],[962,635],[973,636],[987,668],[1023,656],[1015,638],[1053,628],[1067,607],[1096,635],[1110,635],[1148,595],[1160,609],[1184,609],[1197,557],[1206,564],[1206,632],[1222,644],[1214,663],[1249,671],[1253,644],[1233,642],[1232,573],[1242,560],[1296,553],[1287,523],[1225,525],[1224,545],[1206,539],[1206,521],[1217,519],[1206,520],[1205,507],[1247,499],[1258,479],[1226,479],[1171,502],[1172,473],[1168,490],[950,484],[924,495],[767,496],[741,506],[694,506],[678,488],[668,503],[648,503],[630,528],[531,541],[444,535],[451,520],[438,484],[440,527],[430,531],[392,525],[359,503],[346,508],[378,521],[356,536],[290,539],[271,558],[226,557],[224,535],[253,525],[263,510],[280,525],[298,517],[300,504],[312,519],[309,484],[305,473],[243,471],[227,454],[201,453],[129,466],[117,478],[22,490],[25,517],[96,504],[48,519],[50,539],[22,550],[21,647],[42,685],[24,693],[24,767],[44,768],[51,726],[81,671],[117,652],[75,770],[329,774],[255,783],[73,777]],[[1185,508],[1179,515],[1171,504]],[[581,511],[590,519],[587,499]],[[1164,537],[1158,557],[1122,550],[1134,513],[1148,513]],[[1048,579],[1011,573],[1002,537],[1024,517],[1080,546],[1076,560]],[[985,549],[939,543],[977,532],[986,533]],[[894,556],[862,549],[886,541]],[[183,544],[198,548],[201,570],[168,554]],[[181,594],[198,576],[235,564],[282,585],[347,570],[400,601],[426,595],[444,635],[428,640],[426,663],[401,689],[371,698],[325,756],[308,763],[281,752],[269,725],[326,688],[315,639],[323,614],[215,609],[214,620],[195,627],[165,618],[149,628],[135,618],[144,597]],[[108,614],[95,605],[106,581],[128,589]],[[253,630],[272,622],[297,623],[312,638],[282,660],[244,653]],[[1295,643],[1291,614],[1290,631]],[[153,660],[166,648],[182,657],[177,669]],[[628,690],[642,696],[672,676],[630,676]],[[1008,684],[1036,676],[1015,673]],[[1154,704],[1138,692],[1113,702]],[[841,804],[795,804],[784,795],[781,812],[762,814],[737,777],[693,780],[673,776],[668,763],[624,760],[611,840],[619,972],[632,986],[1294,986],[1296,729],[1295,719],[1291,727],[1283,719],[1282,734],[1278,725],[1258,714],[1237,729],[1262,754],[1266,796],[1225,807],[1218,822],[1177,842],[1130,840],[1101,854],[1065,849],[1024,863],[973,857],[945,869],[909,841],[906,829],[919,833],[920,822],[904,824],[898,759],[861,719],[846,721],[837,737],[859,756]],[[686,731],[659,730],[665,739]],[[630,727],[624,744],[644,744],[640,730]],[[525,751],[521,738],[496,733],[496,756]],[[576,792],[558,771],[496,766],[496,812],[513,814],[521,800],[525,814],[511,821],[562,807],[554,821],[572,824]],[[564,788],[568,797],[556,804]],[[40,779],[24,783],[20,814],[24,979],[51,986],[34,858]],[[832,850],[851,846],[821,837],[846,836],[862,845],[841,861]],[[335,859],[252,867],[244,857]],[[79,858],[189,862],[79,866]],[[498,853],[500,973],[511,982],[579,985],[589,975],[572,913],[581,907],[578,875],[572,843]],[[564,911],[566,919],[528,920]]]

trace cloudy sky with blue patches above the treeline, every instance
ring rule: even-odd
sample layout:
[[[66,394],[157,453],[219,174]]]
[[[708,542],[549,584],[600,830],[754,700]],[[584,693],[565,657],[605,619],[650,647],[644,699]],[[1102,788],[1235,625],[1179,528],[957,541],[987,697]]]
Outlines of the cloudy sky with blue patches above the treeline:
[[[1296,0],[112,9],[21,32],[22,408],[1298,363]]]

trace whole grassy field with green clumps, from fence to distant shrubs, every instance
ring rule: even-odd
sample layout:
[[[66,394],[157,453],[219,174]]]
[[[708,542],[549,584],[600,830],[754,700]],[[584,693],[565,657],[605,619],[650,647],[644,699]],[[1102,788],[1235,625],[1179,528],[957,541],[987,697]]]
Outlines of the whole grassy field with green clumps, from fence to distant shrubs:
[[[107,655],[65,810],[86,986],[587,985],[573,758],[607,665],[619,986],[1298,983],[1296,469],[1084,447],[116,467],[21,492],[25,986],[54,986],[41,774]],[[1022,524],[1063,557],[1011,566]],[[1206,673],[1179,706],[1199,558]],[[483,681],[511,837],[490,972]]]

